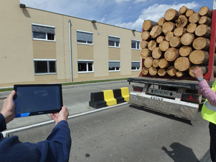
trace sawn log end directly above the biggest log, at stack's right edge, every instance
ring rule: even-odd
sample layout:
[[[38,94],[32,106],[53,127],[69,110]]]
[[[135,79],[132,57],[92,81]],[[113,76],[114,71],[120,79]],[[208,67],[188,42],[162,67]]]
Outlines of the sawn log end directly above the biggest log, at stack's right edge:
[[[198,50],[209,51],[210,40],[204,37],[198,37],[194,40],[193,47]]]

